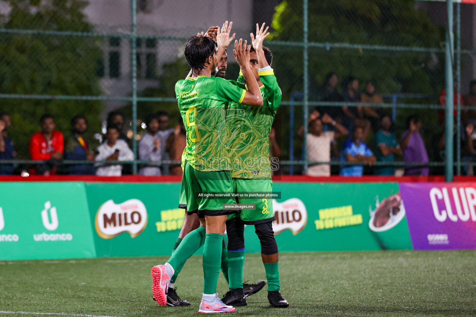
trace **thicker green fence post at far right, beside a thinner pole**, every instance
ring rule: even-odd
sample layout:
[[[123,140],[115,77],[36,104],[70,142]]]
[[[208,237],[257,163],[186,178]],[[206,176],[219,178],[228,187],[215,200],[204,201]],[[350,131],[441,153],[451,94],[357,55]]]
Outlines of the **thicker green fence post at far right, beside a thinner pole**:
[[[453,1],[446,0],[448,27],[446,30],[446,131],[445,181],[453,182]]]

